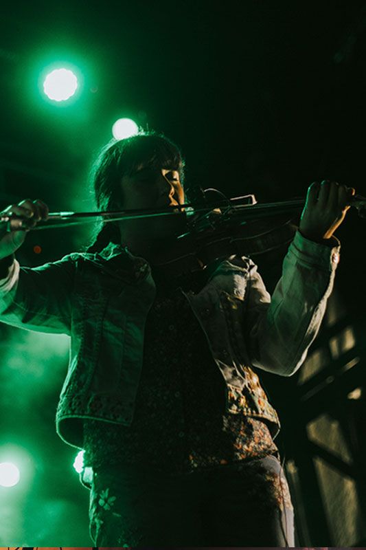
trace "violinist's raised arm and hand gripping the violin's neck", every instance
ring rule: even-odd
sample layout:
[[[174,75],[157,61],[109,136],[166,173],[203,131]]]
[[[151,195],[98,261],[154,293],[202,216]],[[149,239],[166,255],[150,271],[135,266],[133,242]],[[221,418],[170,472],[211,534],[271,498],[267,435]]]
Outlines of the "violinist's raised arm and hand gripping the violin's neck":
[[[251,266],[244,326],[253,366],[289,376],[304,362],[321,326],[339,261],[339,241],[333,233],[352,195],[354,189],[336,182],[310,186],[272,298],[256,266]]]

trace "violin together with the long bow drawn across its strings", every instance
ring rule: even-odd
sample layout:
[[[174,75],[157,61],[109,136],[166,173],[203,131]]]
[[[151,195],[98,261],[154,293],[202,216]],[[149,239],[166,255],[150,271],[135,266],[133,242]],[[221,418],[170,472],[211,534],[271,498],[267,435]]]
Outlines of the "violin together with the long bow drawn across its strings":
[[[268,270],[278,263],[293,240],[297,225],[294,221],[305,206],[305,199],[293,199],[274,203],[257,203],[254,195],[228,198],[216,189],[201,190],[192,203],[165,208],[120,210],[117,212],[50,212],[47,221],[34,228],[27,228],[27,221],[11,212],[0,212],[0,228],[7,230],[45,230],[70,225],[80,225],[102,219],[103,223],[125,219],[157,216],[181,216],[186,231],[167,239],[168,256],[161,252],[154,262],[155,275],[164,278],[181,279],[207,267],[220,263],[233,254],[252,257],[255,263],[262,263]],[[220,199],[208,200],[209,192],[220,195]],[[366,218],[366,198],[354,195],[350,206]],[[274,220],[274,221],[273,221]],[[50,223],[51,222],[51,223]],[[262,268],[261,268],[262,270]],[[207,270],[208,272],[209,270]]]

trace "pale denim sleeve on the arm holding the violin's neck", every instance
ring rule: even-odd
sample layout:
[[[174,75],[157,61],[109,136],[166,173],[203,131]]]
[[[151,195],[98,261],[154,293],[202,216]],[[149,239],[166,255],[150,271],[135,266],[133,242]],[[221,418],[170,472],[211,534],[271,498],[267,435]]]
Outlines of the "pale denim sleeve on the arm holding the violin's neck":
[[[304,363],[332,292],[340,248],[337,239],[332,244],[314,243],[297,232],[272,298],[251,262],[244,326],[253,366],[290,376]]]

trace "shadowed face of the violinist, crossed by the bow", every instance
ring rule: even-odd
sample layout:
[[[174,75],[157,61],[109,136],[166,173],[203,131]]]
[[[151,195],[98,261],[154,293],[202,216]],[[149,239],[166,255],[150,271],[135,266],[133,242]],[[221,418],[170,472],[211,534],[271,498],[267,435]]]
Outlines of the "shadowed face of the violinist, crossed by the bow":
[[[164,166],[138,166],[135,173],[122,177],[121,190],[126,210],[164,208],[185,201],[179,171]],[[182,214],[176,212],[170,216],[122,221],[121,232],[156,239],[184,232],[182,223]]]

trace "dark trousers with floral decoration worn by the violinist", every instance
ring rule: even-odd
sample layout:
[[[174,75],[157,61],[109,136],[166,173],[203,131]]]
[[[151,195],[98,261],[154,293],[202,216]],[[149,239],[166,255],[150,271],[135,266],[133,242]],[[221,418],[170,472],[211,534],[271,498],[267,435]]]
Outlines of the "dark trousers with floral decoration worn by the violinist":
[[[187,474],[109,467],[93,473],[89,512],[99,547],[294,546],[275,456]]]

